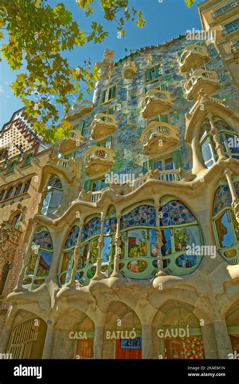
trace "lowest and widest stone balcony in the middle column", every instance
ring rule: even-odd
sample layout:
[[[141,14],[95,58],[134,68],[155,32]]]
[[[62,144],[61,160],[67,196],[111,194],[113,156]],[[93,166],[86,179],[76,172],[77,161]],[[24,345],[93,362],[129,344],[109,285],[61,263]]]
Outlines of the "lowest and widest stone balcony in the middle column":
[[[140,137],[145,155],[161,155],[174,147],[179,141],[177,133],[177,128],[169,123],[151,121]]]

